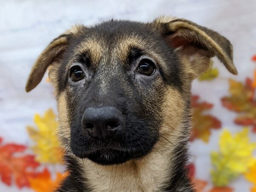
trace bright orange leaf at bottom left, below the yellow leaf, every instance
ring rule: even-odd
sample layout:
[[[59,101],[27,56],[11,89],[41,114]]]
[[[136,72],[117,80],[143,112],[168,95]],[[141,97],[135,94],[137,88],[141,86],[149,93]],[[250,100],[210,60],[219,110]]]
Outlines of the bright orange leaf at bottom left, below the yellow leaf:
[[[52,180],[49,170],[45,168],[36,177],[29,178],[29,183],[35,192],[53,192],[67,175],[57,172],[55,180]]]

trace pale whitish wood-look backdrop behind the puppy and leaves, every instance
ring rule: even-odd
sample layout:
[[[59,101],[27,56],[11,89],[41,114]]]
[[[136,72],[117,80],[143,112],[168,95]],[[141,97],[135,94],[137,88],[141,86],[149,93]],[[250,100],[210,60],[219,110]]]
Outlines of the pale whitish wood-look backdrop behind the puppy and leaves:
[[[241,130],[233,123],[235,113],[221,107],[232,77],[244,81],[253,76],[250,60],[256,53],[256,0],[0,0],[0,137],[5,143],[28,145],[26,125],[33,125],[35,113],[56,108],[52,87],[45,80],[25,93],[26,78],[33,62],[47,44],[75,23],[93,25],[109,19],[150,21],[159,15],[175,15],[207,26],[226,36],[234,46],[234,63],[239,76],[229,74],[214,59],[220,76],[211,82],[193,83],[192,92],[214,103],[211,113],[232,132]],[[46,77],[45,77],[46,78]],[[196,177],[210,180],[211,150],[218,150],[221,130],[212,131],[208,144],[195,140],[191,145]],[[256,134],[250,134],[256,141]],[[239,178],[231,183],[235,192],[249,191],[250,184]],[[17,188],[0,183],[0,192]],[[23,189],[23,192],[29,192]]]

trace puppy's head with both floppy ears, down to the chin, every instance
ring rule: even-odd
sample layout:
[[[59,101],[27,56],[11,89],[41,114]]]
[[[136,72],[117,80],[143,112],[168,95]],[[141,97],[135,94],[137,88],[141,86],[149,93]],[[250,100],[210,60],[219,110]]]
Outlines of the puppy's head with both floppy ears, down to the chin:
[[[191,82],[213,56],[237,73],[230,42],[187,20],[79,25],[44,49],[26,91],[48,68],[65,147],[99,164],[123,163],[187,131]]]

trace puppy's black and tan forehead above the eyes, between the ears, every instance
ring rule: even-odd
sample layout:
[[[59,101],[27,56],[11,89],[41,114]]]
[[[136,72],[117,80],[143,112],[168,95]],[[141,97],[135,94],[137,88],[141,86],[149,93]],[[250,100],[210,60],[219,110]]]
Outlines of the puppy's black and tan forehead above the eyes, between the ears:
[[[156,56],[154,47],[156,34],[145,23],[130,21],[109,21],[87,28],[84,38],[76,48],[76,53],[87,52],[94,64],[118,59],[125,61],[131,49],[143,50],[149,56]]]

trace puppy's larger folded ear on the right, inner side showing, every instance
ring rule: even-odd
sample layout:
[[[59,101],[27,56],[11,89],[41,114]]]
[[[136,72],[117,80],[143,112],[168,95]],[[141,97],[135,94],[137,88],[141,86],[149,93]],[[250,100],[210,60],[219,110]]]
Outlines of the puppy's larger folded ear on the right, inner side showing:
[[[217,32],[191,21],[174,17],[160,17],[154,21],[180,56],[192,79],[210,67],[210,58],[217,56],[230,73],[237,75],[233,64],[233,47]]]

